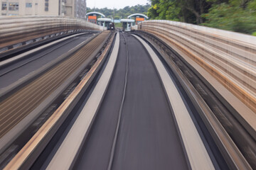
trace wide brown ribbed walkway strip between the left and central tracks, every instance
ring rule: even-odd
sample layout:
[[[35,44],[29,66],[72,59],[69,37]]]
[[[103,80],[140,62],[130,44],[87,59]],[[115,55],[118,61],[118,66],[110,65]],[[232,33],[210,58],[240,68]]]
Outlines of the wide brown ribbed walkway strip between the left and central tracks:
[[[103,32],[90,43],[82,47],[73,57],[50,69],[38,79],[16,91],[0,103],[0,137],[19,123],[33,109],[47,98],[60,84],[65,81],[76,68],[102,43],[109,33]]]

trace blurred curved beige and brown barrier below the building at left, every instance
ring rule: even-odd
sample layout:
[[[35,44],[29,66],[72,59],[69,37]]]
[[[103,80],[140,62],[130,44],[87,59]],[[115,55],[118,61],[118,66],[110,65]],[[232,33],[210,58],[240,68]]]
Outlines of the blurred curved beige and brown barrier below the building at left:
[[[0,53],[67,33],[105,30],[78,18],[63,16],[0,17]]]

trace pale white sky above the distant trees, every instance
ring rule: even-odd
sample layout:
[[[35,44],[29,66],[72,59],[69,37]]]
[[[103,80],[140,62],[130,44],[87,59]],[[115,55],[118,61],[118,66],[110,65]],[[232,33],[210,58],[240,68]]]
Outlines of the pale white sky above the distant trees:
[[[145,5],[149,0],[86,0],[89,8],[124,8],[125,6]]]

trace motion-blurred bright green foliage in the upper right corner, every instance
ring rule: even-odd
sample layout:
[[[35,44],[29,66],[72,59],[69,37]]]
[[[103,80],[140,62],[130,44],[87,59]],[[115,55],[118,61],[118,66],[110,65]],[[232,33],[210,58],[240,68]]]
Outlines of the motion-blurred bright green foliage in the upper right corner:
[[[229,3],[214,4],[204,13],[203,26],[233,30],[252,34],[256,32],[256,1],[232,0]]]

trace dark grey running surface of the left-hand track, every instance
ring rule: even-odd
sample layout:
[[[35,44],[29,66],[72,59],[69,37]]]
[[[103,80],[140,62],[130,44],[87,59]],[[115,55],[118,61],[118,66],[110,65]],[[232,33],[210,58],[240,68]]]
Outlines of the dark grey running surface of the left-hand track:
[[[18,61],[4,69],[0,69],[0,74],[3,74],[4,72],[9,71],[10,69],[16,68],[19,65],[26,63],[33,58],[44,55],[38,60],[34,60],[33,62],[23,65],[22,67],[19,67],[18,69],[14,69],[8,74],[4,74],[3,76],[0,76],[0,89],[6,86],[9,86],[10,84],[13,84],[18,79],[25,77],[27,74],[35,71],[36,69],[39,69],[40,67],[47,64],[48,62],[51,62],[55,58],[60,57],[60,55],[65,54],[65,52],[68,52],[73,47],[79,45],[81,42],[87,40],[87,38],[90,38],[91,36],[92,34],[78,35],[77,37],[64,40],[63,42],[60,42],[57,45],[52,45],[51,47],[47,48],[46,50],[43,50],[42,52],[36,53],[36,55],[33,55],[32,57],[26,58],[25,60]]]

